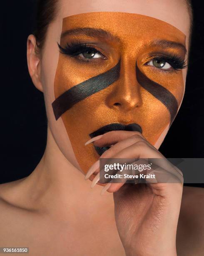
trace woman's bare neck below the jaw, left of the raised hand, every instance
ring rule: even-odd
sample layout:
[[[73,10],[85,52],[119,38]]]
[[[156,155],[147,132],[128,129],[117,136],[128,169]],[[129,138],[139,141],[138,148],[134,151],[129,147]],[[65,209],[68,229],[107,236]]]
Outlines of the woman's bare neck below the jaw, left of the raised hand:
[[[101,196],[102,186],[96,185],[93,189],[90,186],[85,175],[62,154],[48,128],[45,153],[32,174],[21,182],[21,191],[28,190],[24,197],[33,202],[34,208],[46,208],[47,212],[60,215],[63,212],[67,215],[67,207],[74,207],[83,216],[101,209],[113,210],[112,194],[107,192]]]

